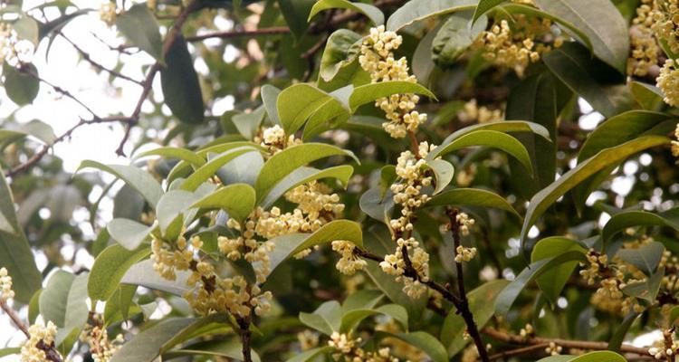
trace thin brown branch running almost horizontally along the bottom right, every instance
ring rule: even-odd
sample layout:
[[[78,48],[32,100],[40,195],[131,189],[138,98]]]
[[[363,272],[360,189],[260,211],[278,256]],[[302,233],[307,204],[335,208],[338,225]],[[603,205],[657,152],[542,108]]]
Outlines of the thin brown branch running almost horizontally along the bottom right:
[[[515,345],[541,345],[554,343],[557,346],[564,348],[578,348],[578,349],[588,349],[588,350],[607,350],[608,342],[597,342],[588,340],[575,340],[575,339],[561,339],[561,338],[540,338],[540,337],[529,337],[523,338],[521,336],[512,335],[499,331],[497,329],[485,328],[483,329],[483,334],[488,337],[497,339],[505,343],[511,343]],[[639,348],[630,345],[620,346],[620,351],[624,353],[633,353],[640,356],[647,356],[648,349]]]

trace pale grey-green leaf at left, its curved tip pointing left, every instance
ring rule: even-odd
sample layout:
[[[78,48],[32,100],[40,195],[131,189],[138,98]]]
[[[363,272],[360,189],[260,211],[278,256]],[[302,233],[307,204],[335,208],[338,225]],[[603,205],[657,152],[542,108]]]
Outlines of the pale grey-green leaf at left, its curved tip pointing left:
[[[78,167],[76,172],[83,168],[92,167],[98,168],[101,171],[108,172],[113,176],[117,176],[125,181],[126,184],[132,186],[139,192],[151,207],[156,207],[160,196],[163,195],[163,189],[158,184],[153,176],[139,167],[124,166],[124,165],[104,165],[97,161],[84,160]]]

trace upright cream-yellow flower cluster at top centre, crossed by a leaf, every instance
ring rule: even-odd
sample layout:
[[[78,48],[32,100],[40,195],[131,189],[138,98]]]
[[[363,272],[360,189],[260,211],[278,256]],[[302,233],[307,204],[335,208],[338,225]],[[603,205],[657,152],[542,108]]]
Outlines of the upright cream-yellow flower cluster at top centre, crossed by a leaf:
[[[360,66],[368,71],[372,82],[410,81],[416,82],[408,73],[406,57],[395,59],[396,50],[403,39],[394,32],[387,32],[384,25],[370,29],[360,47]],[[408,131],[415,131],[426,122],[426,114],[415,110],[419,97],[416,94],[393,94],[379,98],[375,106],[385,111],[388,122],[382,124],[393,138],[404,138]]]

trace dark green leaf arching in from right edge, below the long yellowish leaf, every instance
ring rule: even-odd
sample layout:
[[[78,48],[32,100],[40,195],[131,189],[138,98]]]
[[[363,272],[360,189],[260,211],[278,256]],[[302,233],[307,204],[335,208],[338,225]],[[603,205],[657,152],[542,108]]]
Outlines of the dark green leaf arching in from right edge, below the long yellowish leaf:
[[[646,211],[626,211],[614,214],[601,230],[601,238],[604,243],[607,243],[616,233],[631,226],[667,226],[679,231],[679,208],[658,214]]]

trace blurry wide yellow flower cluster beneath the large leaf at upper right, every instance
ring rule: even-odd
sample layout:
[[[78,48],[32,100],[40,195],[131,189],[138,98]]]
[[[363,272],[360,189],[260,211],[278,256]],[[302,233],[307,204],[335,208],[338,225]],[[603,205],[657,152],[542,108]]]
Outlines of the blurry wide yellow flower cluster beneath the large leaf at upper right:
[[[522,75],[531,62],[540,60],[540,54],[550,52],[552,45],[561,46],[563,39],[552,36],[550,19],[518,14],[512,27],[502,19],[479,34],[475,43],[483,48],[484,59]]]

